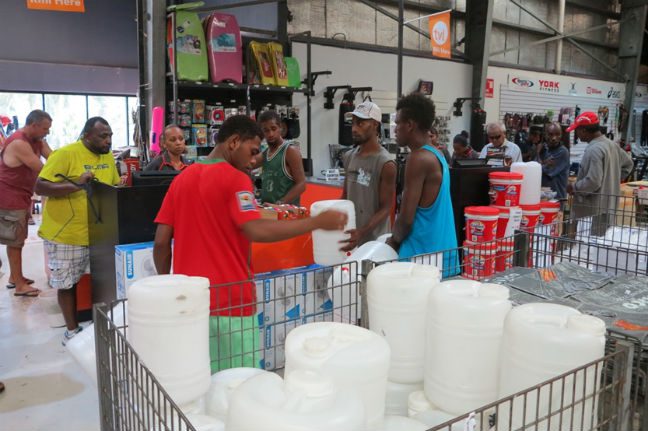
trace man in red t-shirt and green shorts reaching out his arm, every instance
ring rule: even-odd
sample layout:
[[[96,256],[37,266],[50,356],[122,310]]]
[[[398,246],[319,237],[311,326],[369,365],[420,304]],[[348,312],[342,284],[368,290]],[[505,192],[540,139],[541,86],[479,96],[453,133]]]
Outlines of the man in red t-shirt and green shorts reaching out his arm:
[[[178,175],[164,198],[153,258],[158,274],[207,277],[211,289],[212,372],[258,367],[255,287],[250,242],[275,242],[315,229],[342,230],[346,214],[326,211],[302,220],[261,220],[248,175],[263,133],[244,115],[230,117],[207,158]]]

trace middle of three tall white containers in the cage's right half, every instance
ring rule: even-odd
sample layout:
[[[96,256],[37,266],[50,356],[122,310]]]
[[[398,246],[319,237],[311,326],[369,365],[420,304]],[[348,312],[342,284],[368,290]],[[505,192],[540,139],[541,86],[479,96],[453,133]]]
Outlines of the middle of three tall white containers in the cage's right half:
[[[509,290],[469,280],[440,283],[428,301],[425,395],[441,410],[463,414],[497,399]]]

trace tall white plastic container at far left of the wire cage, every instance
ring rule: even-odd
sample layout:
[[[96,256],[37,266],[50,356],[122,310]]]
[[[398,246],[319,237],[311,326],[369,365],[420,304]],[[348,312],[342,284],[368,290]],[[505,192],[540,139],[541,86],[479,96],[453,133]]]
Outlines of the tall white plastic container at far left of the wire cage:
[[[128,340],[180,405],[210,385],[209,280],[156,275],[128,290]]]

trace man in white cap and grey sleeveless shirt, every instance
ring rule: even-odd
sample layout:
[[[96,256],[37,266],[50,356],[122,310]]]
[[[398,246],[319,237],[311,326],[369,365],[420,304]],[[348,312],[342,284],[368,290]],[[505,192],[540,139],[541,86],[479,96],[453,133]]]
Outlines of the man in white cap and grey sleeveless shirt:
[[[396,163],[378,141],[381,111],[373,102],[363,102],[352,113],[352,136],[356,147],[344,155],[342,199],[355,205],[356,229],[341,250],[350,251],[388,233],[396,194]]]

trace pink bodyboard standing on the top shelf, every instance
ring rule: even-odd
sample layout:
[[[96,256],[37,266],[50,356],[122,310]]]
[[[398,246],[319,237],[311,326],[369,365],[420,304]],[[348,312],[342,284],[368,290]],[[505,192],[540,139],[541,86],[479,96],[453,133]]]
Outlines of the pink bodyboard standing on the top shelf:
[[[214,12],[207,20],[205,33],[211,81],[242,84],[243,43],[236,17]]]

